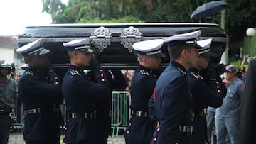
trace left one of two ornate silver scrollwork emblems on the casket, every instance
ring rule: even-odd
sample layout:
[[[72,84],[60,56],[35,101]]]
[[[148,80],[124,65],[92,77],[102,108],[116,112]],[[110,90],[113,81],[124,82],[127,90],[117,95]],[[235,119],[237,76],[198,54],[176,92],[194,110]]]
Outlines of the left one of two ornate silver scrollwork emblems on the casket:
[[[100,28],[96,28],[92,33],[90,38],[92,39],[92,45],[94,45],[95,50],[97,52],[103,52],[108,45],[110,45],[111,33],[110,30],[105,28],[104,26],[100,26]]]

